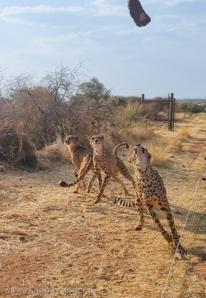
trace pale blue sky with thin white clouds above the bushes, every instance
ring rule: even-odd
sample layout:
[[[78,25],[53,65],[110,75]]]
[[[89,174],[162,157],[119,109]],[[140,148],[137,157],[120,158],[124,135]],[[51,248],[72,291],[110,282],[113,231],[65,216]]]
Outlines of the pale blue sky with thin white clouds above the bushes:
[[[127,0],[0,1],[0,65],[44,76],[87,59],[114,95],[206,97],[206,0],[141,4],[151,22],[139,28]]]

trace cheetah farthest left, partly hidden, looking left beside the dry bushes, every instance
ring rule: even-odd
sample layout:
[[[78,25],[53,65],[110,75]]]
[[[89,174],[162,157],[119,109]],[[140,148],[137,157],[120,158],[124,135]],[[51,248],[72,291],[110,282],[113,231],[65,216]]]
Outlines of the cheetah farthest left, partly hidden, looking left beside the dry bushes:
[[[84,173],[88,163],[89,163],[89,170],[92,170],[93,172],[95,170],[92,162],[92,155],[93,155],[92,150],[89,150],[88,148],[78,144],[77,142],[78,138],[79,138],[78,136],[66,136],[64,140],[64,144],[68,146],[71,153],[72,162],[76,167],[76,169],[73,170],[73,174],[76,178],[80,177]],[[77,174],[77,171],[79,171],[79,175]],[[99,188],[100,188],[102,185],[101,173],[97,178],[99,181]],[[66,182],[64,181],[60,181],[60,182],[62,182],[62,184],[59,183],[61,186],[66,187]],[[86,187],[84,178],[82,179],[82,182],[83,182],[83,185]],[[78,193],[80,183],[81,181],[78,182],[78,185],[74,193]]]

